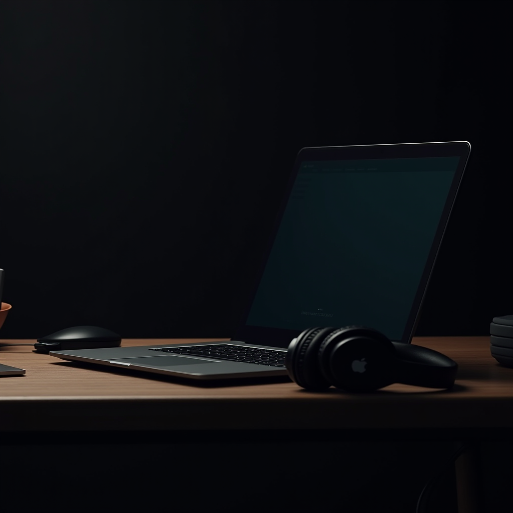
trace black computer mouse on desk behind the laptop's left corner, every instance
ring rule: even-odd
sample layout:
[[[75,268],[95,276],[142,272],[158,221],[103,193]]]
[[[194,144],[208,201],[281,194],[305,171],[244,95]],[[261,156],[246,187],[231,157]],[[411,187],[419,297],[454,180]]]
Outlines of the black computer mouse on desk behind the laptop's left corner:
[[[109,329],[97,326],[75,326],[37,339],[36,352],[48,353],[64,349],[94,349],[97,347],[118,347],[121,336]]]

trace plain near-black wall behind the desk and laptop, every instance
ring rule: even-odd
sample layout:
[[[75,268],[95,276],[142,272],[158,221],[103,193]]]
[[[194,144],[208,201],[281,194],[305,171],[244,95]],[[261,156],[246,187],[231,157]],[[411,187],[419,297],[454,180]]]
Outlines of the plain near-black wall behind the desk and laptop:
[[[469,141],[417,334],[513,313],[510,2],[15,0],[0,20],[2,338],[232,336],[317,145]]]

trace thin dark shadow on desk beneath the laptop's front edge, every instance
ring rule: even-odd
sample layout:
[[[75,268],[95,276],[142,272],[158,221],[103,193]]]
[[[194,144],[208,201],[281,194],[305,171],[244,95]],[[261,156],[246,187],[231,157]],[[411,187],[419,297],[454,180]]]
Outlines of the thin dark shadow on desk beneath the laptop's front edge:
[[[221,387],[236,387],[236,386],[251,386],[263,385],[269,383],[290,383],[291,380],[288,376],[270,376],[262,378],[232,378],[225,380],[212,380],[212,381],[199,381],[186,378],[179,378],[177,376],[165,376],[164,374],[153,374],[141,370],[125,370],[120,367],[108,367],[105,365],[96,365],[88,362],[52,362],[51,365],[58,365],[61,367],[75,367],[75,368],[88,368],[97,372],[106,374],[119,374],[120,376],[132,376],[144,380],[151,381],[164,381],[166,383],[176,383],[179,385],[193,386],[196,388],[221,388]]]

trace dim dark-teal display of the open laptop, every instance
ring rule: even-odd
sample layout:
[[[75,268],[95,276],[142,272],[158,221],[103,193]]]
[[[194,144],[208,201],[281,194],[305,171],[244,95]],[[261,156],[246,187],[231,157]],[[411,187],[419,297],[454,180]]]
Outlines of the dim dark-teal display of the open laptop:
[[[246,326],[289,340],[357,324],[403,340],[461,156],[308,156],[295,166]]]

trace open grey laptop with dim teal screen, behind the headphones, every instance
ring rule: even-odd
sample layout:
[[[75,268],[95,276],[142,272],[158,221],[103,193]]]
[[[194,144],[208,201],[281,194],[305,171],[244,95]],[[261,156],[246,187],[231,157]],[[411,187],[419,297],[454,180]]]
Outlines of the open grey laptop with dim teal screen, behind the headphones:
[[[470,153],[468,142],[303,148],[235,336],[51,351],[194,380],[284,376],[290,341],[362,325],[411,342]]]

